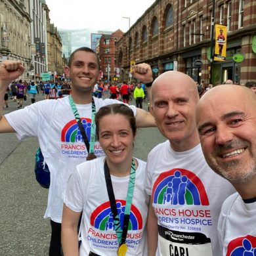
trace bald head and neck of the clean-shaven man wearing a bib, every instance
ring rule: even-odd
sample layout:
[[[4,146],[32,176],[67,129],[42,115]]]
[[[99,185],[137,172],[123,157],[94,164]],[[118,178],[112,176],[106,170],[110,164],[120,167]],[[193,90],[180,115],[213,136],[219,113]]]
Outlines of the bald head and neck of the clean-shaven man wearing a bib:
[[[165,72],[152,86],[152,110],[161,134],[176,151],[199,143],[196,129],[196,83],[181,72]]]

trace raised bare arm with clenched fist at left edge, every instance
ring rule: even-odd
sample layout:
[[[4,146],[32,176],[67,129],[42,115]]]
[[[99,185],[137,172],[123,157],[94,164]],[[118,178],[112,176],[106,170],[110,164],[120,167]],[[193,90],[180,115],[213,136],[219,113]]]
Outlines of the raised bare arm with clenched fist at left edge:
[[[3,117],[3,98],[11,81],[20,77],[25,68],[20,61],[5,60],[0,64],[0,133],[14,133],[7,119]]]

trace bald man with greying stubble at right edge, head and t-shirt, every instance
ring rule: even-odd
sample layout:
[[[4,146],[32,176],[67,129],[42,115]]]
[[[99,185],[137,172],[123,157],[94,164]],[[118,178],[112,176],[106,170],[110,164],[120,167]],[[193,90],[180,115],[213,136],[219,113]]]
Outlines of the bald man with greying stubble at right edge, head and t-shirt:
[[[217,86],[201,98],[196,120],[207,163],[238,191],[221,209],[220,255],[256,255],[256,96]]]

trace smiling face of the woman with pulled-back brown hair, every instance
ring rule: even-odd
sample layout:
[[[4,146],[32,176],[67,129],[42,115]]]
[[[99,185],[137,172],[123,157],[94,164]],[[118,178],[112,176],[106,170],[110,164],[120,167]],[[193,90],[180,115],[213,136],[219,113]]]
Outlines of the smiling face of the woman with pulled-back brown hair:
[[[117,165],[129,161],[133,154],[135,135],[129,119],[122,114],[108,114],[98,122],[98,141],[108,162]]]

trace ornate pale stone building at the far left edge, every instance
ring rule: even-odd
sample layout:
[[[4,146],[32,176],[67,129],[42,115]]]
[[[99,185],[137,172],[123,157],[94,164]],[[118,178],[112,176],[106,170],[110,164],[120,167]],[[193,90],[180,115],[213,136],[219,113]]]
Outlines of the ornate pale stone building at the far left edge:
[[[31,69],[30,5],[28,0],[0,0],[0,62],[20,60],[26,72],[20,77],[28,81]]]

